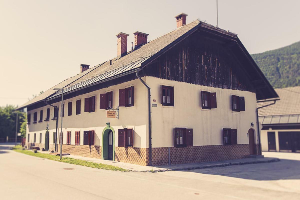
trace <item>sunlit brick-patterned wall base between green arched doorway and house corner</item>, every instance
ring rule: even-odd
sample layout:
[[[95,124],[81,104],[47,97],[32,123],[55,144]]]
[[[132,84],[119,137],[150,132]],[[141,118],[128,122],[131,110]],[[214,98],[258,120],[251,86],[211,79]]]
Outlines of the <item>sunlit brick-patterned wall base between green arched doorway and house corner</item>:
[[[149,165],[148,155],[148,148],[116,147],[115,149],[115,160],[119,162],[147,166]]]

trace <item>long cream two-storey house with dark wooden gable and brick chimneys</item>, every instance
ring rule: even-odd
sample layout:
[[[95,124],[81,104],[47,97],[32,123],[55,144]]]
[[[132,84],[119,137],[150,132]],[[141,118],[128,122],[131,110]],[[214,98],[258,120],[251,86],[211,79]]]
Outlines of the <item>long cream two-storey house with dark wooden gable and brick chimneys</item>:
[[[61,113],[62,151],[73,155],[166,165],[259,154],[256,100],[276,92],[237,34],[186,24],[186,16],[150,42],[134,32],[129,52],[129,35],[120,32],[116,58],[81,64],[81,73],[20,106],[29,115],[27,146],[54,150]],[[62,109],[54,88],[64,88]],[[45,102],[59,107],[58,116]]]

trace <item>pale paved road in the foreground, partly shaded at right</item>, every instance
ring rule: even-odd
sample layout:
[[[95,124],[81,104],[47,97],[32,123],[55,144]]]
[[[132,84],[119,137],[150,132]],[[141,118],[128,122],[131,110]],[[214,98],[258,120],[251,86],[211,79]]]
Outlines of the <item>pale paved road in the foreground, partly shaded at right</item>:
[[[114,172],[27,156],[0,145],[0,199],[299,199],[299,163],[296,154],[276,163]]]

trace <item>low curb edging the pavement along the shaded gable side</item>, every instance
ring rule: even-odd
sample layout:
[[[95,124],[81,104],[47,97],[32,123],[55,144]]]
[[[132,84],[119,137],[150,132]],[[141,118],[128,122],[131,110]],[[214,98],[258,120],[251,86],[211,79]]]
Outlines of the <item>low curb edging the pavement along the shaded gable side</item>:
[[[223,164],[215,164],[215,165],[206,165],[206,166],[198,166],[198,167],[187,167],[187,168],[175,168],[175,169],[157,169],[157,170],[145,170],[145,171],[137,171],[137,170],[130,170],[131,172],[168,172],[168,171],[187,171],[193,169],[206,169],[206,168],[213,168],[213,167],[226,167],[232,165],[248,165],[248,164],[259,164],[259,163],[273,163],[280,161],[279,158],[273,158],[271,160],[256,160],[256,161],[249,161],[249,162],[236,162],[236,163],[223,163]]]

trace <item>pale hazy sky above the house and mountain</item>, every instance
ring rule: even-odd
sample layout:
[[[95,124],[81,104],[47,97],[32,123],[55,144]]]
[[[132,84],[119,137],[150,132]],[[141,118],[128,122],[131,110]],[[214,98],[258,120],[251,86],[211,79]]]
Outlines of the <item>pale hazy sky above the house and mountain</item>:
[[[250,54],[300,40],[298,0],[219,0],[219,27],[238,34]],[[0,0],[0,106],[21,105],[117,55],[116,34],[149,34],[148,41],[176,28],[186,13],[217,25],[215,0],[15,1]]]

